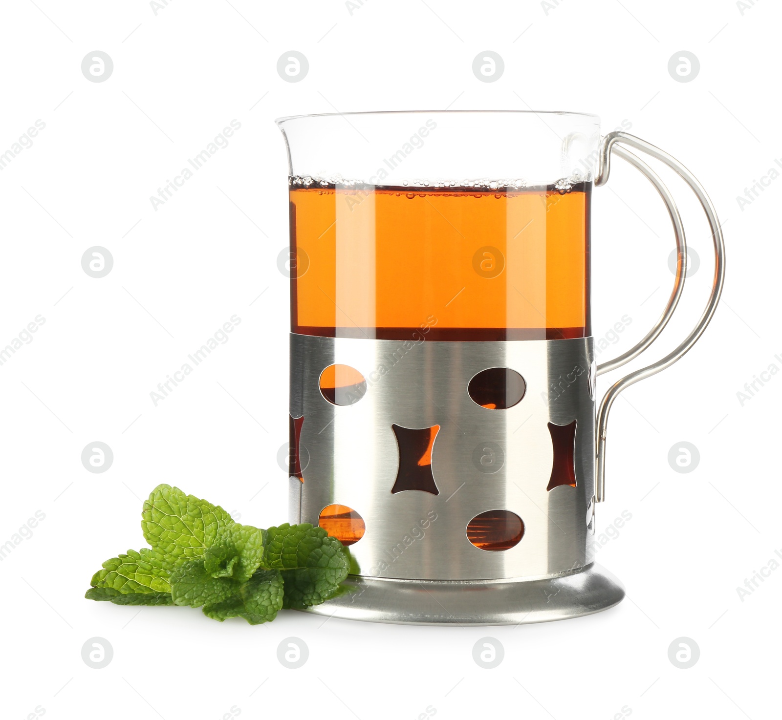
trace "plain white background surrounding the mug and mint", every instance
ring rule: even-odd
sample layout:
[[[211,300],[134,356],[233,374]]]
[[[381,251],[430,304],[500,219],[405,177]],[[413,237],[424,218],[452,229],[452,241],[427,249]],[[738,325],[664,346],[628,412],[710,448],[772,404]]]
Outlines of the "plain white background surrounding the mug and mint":
[[[351,14],[337,0],[171,0],[157,13],[142,0],[36,2],[4,3],[0,45],[0,152],[45,123],[0,171],[0,346],[45,317],[0,366],[0,543],[45,514],[0,564],[3,718],[36,707],[51,718],[166,720],[236,710],[418,718],[429,706],[443,718],[778,715],[782,568],[743,601],[737,586],[782,549],[782,377],[743,407],[737,392],[769,364],[782,368],[782,180],[743,210],[737,196],[782,156],[779,5],[748,0],[742,14],[729,0],[368,0]],[[276,70],[292,49],[310,63],[295,84]],[[493,83],[472,74],[486,49],[505,63]],[[81,73],[93,50],[113,59],[102,83]],[[680,50],[700,60],[694,81],[669,75]],[[622,511],[632,519],[597,559],[626,600],[587,618],[494,628],[294,612],[251,627],[84,600],[102,561],[142,546],[141,499],[160,482],[252,525],[287,519],[276,460],[287,442],[289,291],[277,267],[287,167],[274,117],[446,107],[592,112],[604,132],[628,120],[694,171],[725,223],[726,289],[704,338],[613,411],[598,538]],[[233,119],[242,127],[230,145],[154,210],[149,196]],[[673,281],[669,223],[633,172],[617,161],[594,194],[594,335],[633,321],[599,360],[644,335]],[[701,267],[648,357],[683,337],[711,283],[705,220],[671,186]],[[105,278],[81,268],[93,245],[113,255]],[[149,392],[233,314],[242,322],[229,342],[155,407]],[[104,474],[81,464],[94,441],[114,453]],[[701,456],[687,474],[668,463],[681,441]],[[113,647],[106,668],[81,659],[95,636]],[[298,670],[277,660],[290,636],[310,650]],[[483,636],[504,646],[492,670],[472,660]],[[701,650],[687,670],[668,658],[680,636]]]

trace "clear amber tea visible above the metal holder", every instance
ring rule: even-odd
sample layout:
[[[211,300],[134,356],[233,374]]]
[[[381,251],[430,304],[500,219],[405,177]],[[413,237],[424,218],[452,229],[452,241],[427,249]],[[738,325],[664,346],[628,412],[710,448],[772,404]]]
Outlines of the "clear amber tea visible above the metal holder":
[[[590,334],[591,184],[362,187],[292,178],[292,331]]]

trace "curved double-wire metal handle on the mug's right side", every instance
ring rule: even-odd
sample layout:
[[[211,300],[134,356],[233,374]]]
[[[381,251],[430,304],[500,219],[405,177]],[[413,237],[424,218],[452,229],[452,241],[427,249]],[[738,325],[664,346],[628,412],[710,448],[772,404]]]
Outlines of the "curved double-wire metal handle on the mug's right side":
[[[611,171],[612,153],[626,160],[634,167],[637,167],[637,169],[647,177],[651,184],[655,186],[655,189],[663,202],[665,202],[665,206],[668,209],[669,216],[673,223],[673,232],[676,236],[678,262],[676,263],[676,280],[673,284],[673,292],[671,292],[665,310],[663,310],[663,313],[655,326],[651,328],[651,331],[647,333],[644,339],[626,353],[623,353],[614,360],[608,360],[608,362],[598,365],[597,374],[614,370],[616,367],[620,367],[623,364],[630,362],[634,357],[643,353],[652,342],[655,342],[655,339],[660,335],[663,328],[665,328],[665,325],[668,324],[668,321],[673,315],[673,311],[676,310],[676,305],[679,303],[684,288],[684,279],[687,275],[687,242],[684,238],[684,228],[682,226],[679,210],[676,208],[676,202],[673,201],[673,195],[671,195],[668,188],[665,187],[657,174],[651,170],[651,167],[648,167],[646,163],[633,155],[632,152],[619,146],[619,143],[630,145],[633,149],[645,152],[647,155],[665,163],[665,165],[675,170],[676,174],[682,177],[690,186],[692,192],[695,193],[698,201],[701,203],[701,207],[706,213],[709,227],[711,227],[712,230],[712,241],[714,242],[714,282],[712,285],[712,292],[708,296],[708,302],[698,320],[698,324],[695,325],[693,330],[685,339],[683,339],[680,345],[656,363],[647,365],[647,367],[642,367],[640,370],[631,372],[621,380],[616,381],[601,400],[600,406],[597,409],[597,464],[595,471],[595,495],[598,503],[601,503],[605,499],[605,440],[608,430],[608,413],[611,410],[614,400],[619,396],[619,393],[622,392],[622,390],[630,387],[630,385],[633,385],[640,380],[644,380],[644,378],[648,378],[651,375],[657,374],[658,372],[665,370],[666,367],[673,365],[676,360],[683,357],[684,354],[694,346],[695,342],[698,342],[698,339],[701,337],[714,315],[717,303],[719,303],[719,296],[723,292],[723,284],[725,281],[725,244],[723,241],[723,231],[719,224],[716,210],[712,205],[712,201],[708,198],[708,195],[706,195],[703,186],[698,182],[694,175],[682,165],[682,163],[672,156],[669,156],[667,152],[655,147],[655,145],[651,145],[651,143],[645,140],[641,140],[634,135],[624,132],[608,133],[601,141],[600,155],[597,160],[597,176],[595,177],[594,184],[599,187],[608,182],[608,174]]]

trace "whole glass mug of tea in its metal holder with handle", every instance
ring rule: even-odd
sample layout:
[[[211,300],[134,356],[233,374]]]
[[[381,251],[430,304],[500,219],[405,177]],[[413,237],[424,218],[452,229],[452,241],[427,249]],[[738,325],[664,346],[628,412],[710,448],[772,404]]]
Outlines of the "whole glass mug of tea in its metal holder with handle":
[[[601,138],[597,116],[580,113],[347,113],[278,125],[289,151],[291,515],[351,545],[361,593],[339,613],[442,614],[419,607],[420,598],[407,607],[401,589],[397,600],[378,600],[389,593],[375,579],[435,582],[442,593],[449,582],[512,580],[495,609],[502,617],[540,579],[570,589],[596,583],[597,600],[563,586],[557,617],[618,602],[620,586],[590,553],[608,410],[622,389],[686,353],[715,310],[723,238],[701,185],[639,138]],[[712,228],[716,270],[687,339],[615,383],[595,421],[597,374],[654,342],[686,276],[673,197],[620,145],[691,185]],[[641,170],[665,202],[679,264],[651,331],[597,366],[590,207],[612,155]],[[400,545],[400,528],[421,538],[409,530]],[[478,616],[495,612],[483,605]],[[468,606],[454,617],[475,617]]]

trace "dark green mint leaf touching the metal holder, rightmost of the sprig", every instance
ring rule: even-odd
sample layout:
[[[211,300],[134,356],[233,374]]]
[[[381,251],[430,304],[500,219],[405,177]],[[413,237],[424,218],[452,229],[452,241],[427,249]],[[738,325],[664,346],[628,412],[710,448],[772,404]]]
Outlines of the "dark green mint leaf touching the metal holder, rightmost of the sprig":
[[[301,610],[339,592],[350,571],[350,554],[338,539],[309,523],[267,530],[264,568],[282,571],[282,607]]]

